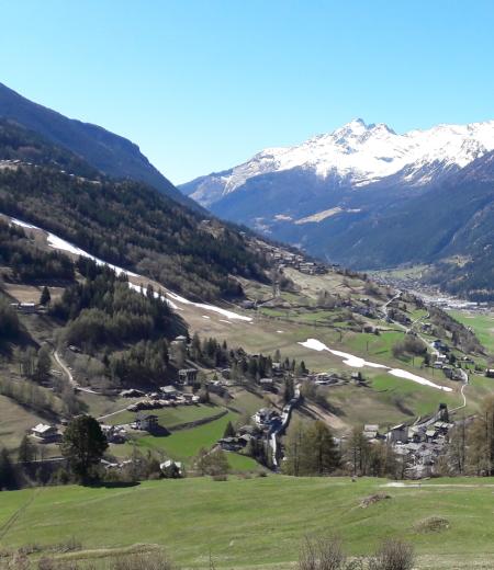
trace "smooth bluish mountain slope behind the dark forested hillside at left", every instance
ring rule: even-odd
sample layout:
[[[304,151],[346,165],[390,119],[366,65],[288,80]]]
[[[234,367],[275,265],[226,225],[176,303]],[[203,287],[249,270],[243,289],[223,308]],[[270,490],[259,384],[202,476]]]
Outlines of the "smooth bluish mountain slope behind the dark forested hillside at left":
[[[134,142],[98,125],[67,118],[33,103],[2,83],[0,117],[14,121],[70,150],[103,174],[145,182],[181,204],[198,207],[193,201],[183,197]]]

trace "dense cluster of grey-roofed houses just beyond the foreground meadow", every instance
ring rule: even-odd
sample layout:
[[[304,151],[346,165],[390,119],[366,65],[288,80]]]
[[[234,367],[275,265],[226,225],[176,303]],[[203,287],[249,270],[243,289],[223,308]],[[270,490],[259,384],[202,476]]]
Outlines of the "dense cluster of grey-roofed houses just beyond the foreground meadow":
[[[448,433],[453,425],[449,422],[446,404],[440,404],[436,414],[413,425],[401,423],[380,433],[379,425],[367,424],[363,435],[370,443],[386,441],[403,458],[406,477],[419,479],[434,474],[438,458],[446,452]]]

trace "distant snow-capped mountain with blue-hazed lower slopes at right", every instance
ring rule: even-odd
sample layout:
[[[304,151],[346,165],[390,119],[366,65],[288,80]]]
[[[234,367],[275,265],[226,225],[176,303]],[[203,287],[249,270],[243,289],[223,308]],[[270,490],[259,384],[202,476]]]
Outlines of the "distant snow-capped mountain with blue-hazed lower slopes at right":
[[[397,135],[357,119],[181,190],[216,215],[360,270],[436,264],[491,243],[493,150],[494,121]],[[473,282],[459,292],[476,290]]]

